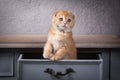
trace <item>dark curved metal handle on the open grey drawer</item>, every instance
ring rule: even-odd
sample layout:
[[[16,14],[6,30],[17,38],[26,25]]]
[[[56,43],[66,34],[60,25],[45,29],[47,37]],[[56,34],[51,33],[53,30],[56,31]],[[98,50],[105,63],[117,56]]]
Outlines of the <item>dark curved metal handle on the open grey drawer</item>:
[[[44,72],[45,72],[45,73],[48,73],[48,74],[50,74],[50,75],[52,75],[52,76],[54,76],[54,77],[56,77],[56,78],[61,78],[61,77],[66,76],[66,75],[68,75],[68,74],[70,74],[70,73],[75,73],[75,71],[74,71],[72,68],[67,68],[66,71],[65,71],[65,73],[55,72],[55,71],[54,71],[53,69],[51,69],[51,68],[47,68]]]

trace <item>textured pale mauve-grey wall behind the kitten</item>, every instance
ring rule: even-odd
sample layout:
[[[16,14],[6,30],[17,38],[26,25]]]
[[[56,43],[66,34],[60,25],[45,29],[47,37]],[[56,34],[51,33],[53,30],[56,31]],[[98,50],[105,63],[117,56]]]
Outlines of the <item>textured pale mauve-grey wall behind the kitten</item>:
[[[120,0],[0,0],[0,34],[46,35],[56,10],[74,13],[75,35],[120,35]]]

